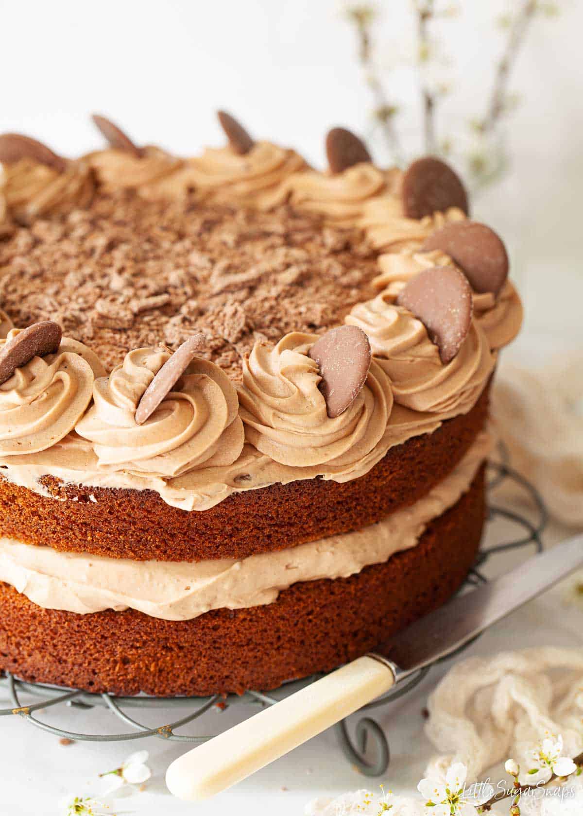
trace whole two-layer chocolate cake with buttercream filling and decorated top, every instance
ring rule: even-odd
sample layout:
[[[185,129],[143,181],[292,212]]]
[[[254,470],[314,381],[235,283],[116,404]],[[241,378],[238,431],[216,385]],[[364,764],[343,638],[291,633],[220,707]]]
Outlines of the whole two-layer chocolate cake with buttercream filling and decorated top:
[[[0,136],[0,669],[269,689],[459,588],[522,308],[434,157]]]

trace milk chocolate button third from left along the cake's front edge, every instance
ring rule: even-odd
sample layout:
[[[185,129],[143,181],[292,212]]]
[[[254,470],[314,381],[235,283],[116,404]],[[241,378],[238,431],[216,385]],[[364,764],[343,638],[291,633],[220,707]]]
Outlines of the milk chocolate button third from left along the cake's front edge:
[[[352,405],[367,381],[371,367],[371,344],[358,326],[338,326],[327,331],[309,349],[308,356],[320,367],[318,386],[333,419]]]

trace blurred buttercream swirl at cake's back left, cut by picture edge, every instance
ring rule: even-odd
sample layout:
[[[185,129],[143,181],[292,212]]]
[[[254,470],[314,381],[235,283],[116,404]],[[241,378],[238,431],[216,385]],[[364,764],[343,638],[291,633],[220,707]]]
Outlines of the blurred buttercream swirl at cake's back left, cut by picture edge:
[[[95,188],[95,176],[87,162],[68,162],[64,172],[30,158],[4,165],[5,205],[21,224],[89,206]]]

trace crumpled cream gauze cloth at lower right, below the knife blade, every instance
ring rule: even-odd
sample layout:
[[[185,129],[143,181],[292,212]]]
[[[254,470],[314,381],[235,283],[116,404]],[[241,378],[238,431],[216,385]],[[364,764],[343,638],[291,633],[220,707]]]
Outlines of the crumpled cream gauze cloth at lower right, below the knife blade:
[[[583,649],[541,646],[456,663],[429,696],[425,733],[438,756],[427,774],[463,762],[470,781],[510,757],[526,772],[545,735],[583,751]],[[532,766],[532,762],[531,765]],[[521,774],[520,782],[529,778]]]

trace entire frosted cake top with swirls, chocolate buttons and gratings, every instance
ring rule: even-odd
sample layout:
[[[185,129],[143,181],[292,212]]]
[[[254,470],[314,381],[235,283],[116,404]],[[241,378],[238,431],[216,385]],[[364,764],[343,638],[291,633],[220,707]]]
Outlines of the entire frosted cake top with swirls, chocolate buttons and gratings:
[[[226,148],[187,159],[101,126],[112,147],[76,161],[0,137],[5,477],[205,509],[353,480],[472,410],[522,309],[504,245],[467,219],[447,165],[382,170],[337,129],[318,172],[233,122]],[[65,337],[38,350],[42,328],[20,331],[47,320]],[[322,357],[335,326],[360,339]],[[189,338],[196,358],[172,379]]]

